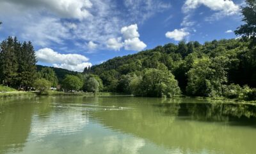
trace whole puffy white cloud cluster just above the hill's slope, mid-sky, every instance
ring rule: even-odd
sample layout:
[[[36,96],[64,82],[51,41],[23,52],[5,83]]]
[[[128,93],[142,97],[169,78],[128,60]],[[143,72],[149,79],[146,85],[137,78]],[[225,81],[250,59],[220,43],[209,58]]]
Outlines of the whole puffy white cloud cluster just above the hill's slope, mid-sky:
[[[113,50],[120,50],[124,46],[125,50],[134,50],[141,51],[147,47],[143,41],[139,39],[140,34],[138,32],[138,25],[129,25],[122,27],[121,33],[124,38],[124,42],[122,42],[122,38],[110,38],[107,41],[108,48]]]

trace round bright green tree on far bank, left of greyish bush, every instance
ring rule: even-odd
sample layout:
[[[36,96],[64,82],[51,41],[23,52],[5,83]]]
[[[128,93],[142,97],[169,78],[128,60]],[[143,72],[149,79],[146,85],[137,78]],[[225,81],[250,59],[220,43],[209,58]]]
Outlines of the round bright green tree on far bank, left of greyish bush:
[[[83,87],[83,81],[80,78],[74,75],[67,75],[62,81],[62,87],[67,90],[80,90]]]

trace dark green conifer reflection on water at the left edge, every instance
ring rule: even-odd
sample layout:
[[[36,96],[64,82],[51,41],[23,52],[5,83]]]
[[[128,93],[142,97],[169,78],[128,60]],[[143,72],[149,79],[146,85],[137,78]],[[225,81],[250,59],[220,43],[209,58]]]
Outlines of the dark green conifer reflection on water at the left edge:
[[[4,101],[10,105],[0,106],[0,153],[10,149],[20,152],[30,132],[33,105]]]

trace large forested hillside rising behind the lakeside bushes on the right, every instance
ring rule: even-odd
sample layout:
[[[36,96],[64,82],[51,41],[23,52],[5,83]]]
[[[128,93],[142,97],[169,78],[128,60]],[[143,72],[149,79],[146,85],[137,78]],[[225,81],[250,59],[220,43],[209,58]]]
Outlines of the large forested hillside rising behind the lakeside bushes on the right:
[[[248,49],[248,44],[241,39],[214,40],[204,45],[180,41],[178,45],[169,43],[116,57],[84,69],[84,73],[99,75],[108,91],[125,92],[131,76],[143,76],[143,70],[154,68],[170,71],[184,94],[215,95],[223,91],[223,85],[256,87],[256,52]]]

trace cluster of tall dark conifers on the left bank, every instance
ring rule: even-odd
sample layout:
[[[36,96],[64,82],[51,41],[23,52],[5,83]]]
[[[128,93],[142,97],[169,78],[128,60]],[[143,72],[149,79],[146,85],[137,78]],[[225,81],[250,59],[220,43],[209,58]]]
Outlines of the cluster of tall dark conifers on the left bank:
[[[36,56],[32,43],[9,37],[0,44],[0,83],[28,90],[36,78]]]

